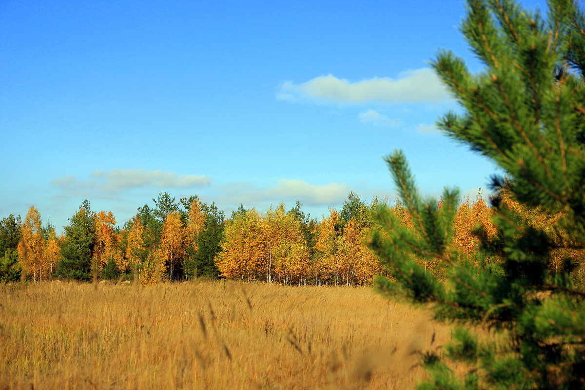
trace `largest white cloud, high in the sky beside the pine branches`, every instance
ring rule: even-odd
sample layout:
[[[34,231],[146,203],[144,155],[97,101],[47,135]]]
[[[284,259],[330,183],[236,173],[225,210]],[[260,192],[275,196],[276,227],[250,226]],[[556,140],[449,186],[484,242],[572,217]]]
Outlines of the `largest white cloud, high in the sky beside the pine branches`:
[[[451,100],[445,85],[431,68],[402,72],[396,80],[374,77],[350,82],[329,74],[302,84],[285,81],[276,97],[291,102],[345,104],[445,103]]]

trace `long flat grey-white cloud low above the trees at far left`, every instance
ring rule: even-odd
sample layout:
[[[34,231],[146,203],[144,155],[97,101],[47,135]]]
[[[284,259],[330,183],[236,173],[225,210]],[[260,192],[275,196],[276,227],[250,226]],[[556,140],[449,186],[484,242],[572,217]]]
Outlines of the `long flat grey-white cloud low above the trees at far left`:
[[[196,188],[209,187],[209,178],[196,175],[177,175],[162,170],[97,170],[80,180],[72,175],[50,182],[62,195],[115,198],[122,191],[133,188]]]

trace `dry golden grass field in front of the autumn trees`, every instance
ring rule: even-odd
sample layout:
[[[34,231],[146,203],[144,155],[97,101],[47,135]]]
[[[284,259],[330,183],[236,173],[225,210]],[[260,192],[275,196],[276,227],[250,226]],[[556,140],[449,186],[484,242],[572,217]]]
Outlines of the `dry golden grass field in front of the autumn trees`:
[[[449,334],[363,287],[6,284],[0,388],[409,389]]]

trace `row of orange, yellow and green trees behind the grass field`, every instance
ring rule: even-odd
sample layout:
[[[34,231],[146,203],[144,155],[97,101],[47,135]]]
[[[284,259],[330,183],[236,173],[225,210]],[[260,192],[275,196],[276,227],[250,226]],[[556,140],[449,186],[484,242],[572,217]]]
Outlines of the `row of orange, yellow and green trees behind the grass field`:
[[[60,236],[50,223],[43,226],[35,206],[24,220],[10,215],[0,222],[1,278],[15,280],[25,270],[33,282],[97,277],[155,283],[207,277],[350,286],[370,285],[376,275],[386,275],[367,243],[379,227],[374,211],[384,203],[380,199],[368,204],[350,192],[342,208],[329,209],[320,221],[305,213],[300,201],[288,210],[281,203],[263,212],[240,205],[230,218],[197,195],[176,201],[165,192],[153,202],[138,208],[120,228],[112,212],[94,212],[86,199]],[[436,206],[442,208],[442,201]],[[390,210],[415,232],[401,202]],[[524,212],[534,223],[553,223],[553,217]],[[476,229],[495,234],[492,214],[481,193],[472,201],[463,199],[453,220],[453,247],[473,254],[479,243]],[[436,261],[418,261],[428,272],[441,271]]]

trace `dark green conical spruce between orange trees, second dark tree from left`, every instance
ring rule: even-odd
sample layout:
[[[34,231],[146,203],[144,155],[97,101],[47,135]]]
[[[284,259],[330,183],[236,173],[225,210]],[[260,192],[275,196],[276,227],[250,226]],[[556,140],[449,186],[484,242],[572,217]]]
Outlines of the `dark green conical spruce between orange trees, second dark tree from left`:
[[[57,264],[57,276],[88,281],[91,279],[92,254],[94,251],[94,212],[90,201],[85,199],[65,226],[65,241],[61,246],[61,260]]]

